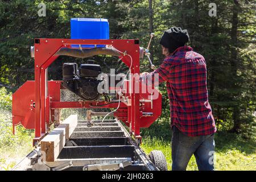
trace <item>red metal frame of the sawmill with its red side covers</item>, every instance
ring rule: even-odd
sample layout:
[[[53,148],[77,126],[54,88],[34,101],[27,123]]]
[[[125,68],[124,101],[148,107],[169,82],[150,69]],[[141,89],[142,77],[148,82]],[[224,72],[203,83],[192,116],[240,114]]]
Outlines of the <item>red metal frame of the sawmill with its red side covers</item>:
[[[113,103],[105,106],[98,106],[105,104],[105,102],[98,101],[82,101],[82,102],[60,102],[60,89],[61,81],[47,81],[47,68],[57,59],[58,56],[55,53],[63,47],[71,47],[72,44],[104,44],[112,45],[121,52],[126,52],[132,59],[132,65],[130,57],[127,55],[121,55],[122,61],[131,67],[130,73],[139,74],[139,44],[137,40],[126,39],[126,40],[88,40],[88,39],[35,39],[35,81],[27,82],[19,88],[13,95],[13,125],[22,123],[24,126],[27,122],[29,125],[26,128],[35,129],[34,141],[39,141],[47,133],[46,125],[51,124],[51,118],[53,111],[61,108],[116,108],[118,103]],[[133,77],[131,80],[131,88],[134,91]],[[34,86],[34,92],[27,89],[32,89]],[[158,90],[154,90],[158,92]],[[28,94],[29,93],[29,94]],[[27,96],[28,94],[28,96]],[[27,97],[26,97],[27,96]],[[22,98],[23,97],[23,98]],[[150,105],[144,104],[140,106],[140,99],[143,98],[143,94],[140,93],[129,93],[129,100],[131,105],[121,103],[115,116],[130,126],[130,132],[136,137],[141,138],[140,128],[148,127],[156,118],[159,117],[162,109],[162,96],[159,93],[159,98],[154,100],[154,117],[142,117],[142,110],[150,110]],[[23,103],[21,103],[23,100]],[[30,105],[30,106],[29,106]],[[19,109],[18,109],[19,108]],[[22,110],[22,114],[20,114]]]

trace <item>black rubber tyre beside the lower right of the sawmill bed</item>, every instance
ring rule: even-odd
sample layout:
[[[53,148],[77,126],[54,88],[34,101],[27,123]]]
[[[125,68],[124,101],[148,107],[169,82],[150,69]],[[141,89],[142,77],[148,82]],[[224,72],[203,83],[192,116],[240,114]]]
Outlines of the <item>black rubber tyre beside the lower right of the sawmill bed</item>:
[[[167,171],[166,157],[160,150],[153,150],[148,155],[151,161],[155,164],[160,171]]]

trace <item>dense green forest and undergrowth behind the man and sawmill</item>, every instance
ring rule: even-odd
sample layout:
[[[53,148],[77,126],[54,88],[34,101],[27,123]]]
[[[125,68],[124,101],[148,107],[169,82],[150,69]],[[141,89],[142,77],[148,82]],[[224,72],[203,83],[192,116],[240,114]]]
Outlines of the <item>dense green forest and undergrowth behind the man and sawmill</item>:
[[[39,16],[40,3],[46,5],[45,16]],[[11,132],[7,129],[11,120],[3,114],[11,112],[11,93],[27,80],[34,80],[34,59],[30,56],[34,38],[70,38],[71,18],[106,18],[110,39],[139,39],[140,46],[146,47],[150,33],[154,32],[150,52],[153,64],[158,67],[164,59],[159,39],[164,30],[176,26],[188,30],[188,46],[207,61],[209,102],[218,130],[217,159],[234,160],[223,166],[217,164],[217,169],[255,170],[255,11],[255,1],[248,0],[0,1],[0,111],[1,116],[5,115],[0,118],[0,136]],[[106,68],[127,70],[117,65],[112,57],[94,56],[92,59],[97,64],[105,64]],[[49,67],[49,80],[61,80],[62,64],[68,61],[85,63],[86,59],[60,56]],[[150,71],[148,60],[141,60],[141,72]],[[159,85],[159,90],[163,94],[162,115],[149,129],[142,130],[144,150],[162,148],[171,168],[166,84]],[[20,132],[32,135],[21,128]],[[0,148],[15,146],[15,139],[17,137],[11,141],[0,137]],[[229,154],[234,159],[228,159]],[[245,162],[247,160],[250,162]],[[0,163],[3,166],[7,163],[2,156]],[[196,169],[195,159],[189,165],[188,169]]]

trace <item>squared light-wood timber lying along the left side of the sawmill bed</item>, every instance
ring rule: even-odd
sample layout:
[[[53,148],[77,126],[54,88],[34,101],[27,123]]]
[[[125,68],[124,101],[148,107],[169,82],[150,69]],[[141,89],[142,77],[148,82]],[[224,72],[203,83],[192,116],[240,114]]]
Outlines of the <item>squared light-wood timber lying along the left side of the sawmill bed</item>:
[[[41,140],[41,151],[46,162],[54,162],[77,125],[77,115],[70,115]]]

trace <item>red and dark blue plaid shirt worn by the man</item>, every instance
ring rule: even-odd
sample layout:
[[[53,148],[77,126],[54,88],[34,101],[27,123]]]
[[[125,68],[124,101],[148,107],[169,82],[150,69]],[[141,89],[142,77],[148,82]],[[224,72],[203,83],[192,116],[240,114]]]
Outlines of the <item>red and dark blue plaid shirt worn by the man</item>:
[[[176,126],[189,137],[215,133],[204,57],[189,46],[179,47],[158,69],[142,75],[141,79],[154,83],[156,73],[159,74],[159,84],[167,82],[171,127]]]

